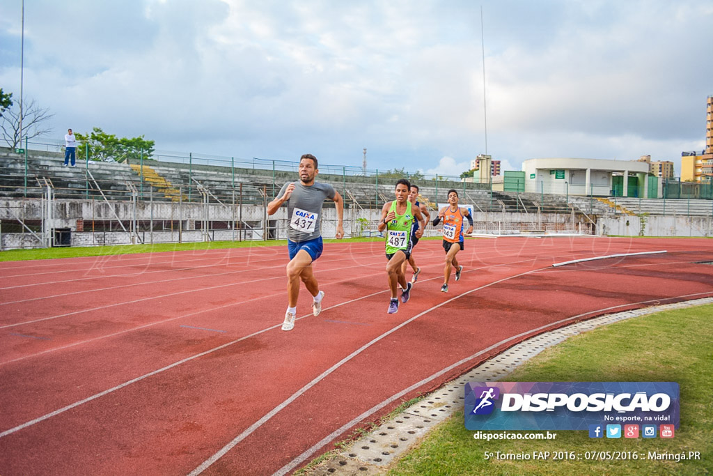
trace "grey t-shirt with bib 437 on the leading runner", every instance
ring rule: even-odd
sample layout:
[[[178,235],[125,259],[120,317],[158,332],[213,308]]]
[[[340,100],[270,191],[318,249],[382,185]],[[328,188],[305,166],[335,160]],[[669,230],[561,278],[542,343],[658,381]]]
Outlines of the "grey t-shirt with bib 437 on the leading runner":
[[[308,187],[301,181],[287,182],[280,188],[278,197],[284,195],[290,183],[294,183],[294,191],[285,202],[289,218],[287,238],[295,243],[319,238],[322,236],[322,204],[325,199],[334,198],[334,187],[329,183],[314,182]]]

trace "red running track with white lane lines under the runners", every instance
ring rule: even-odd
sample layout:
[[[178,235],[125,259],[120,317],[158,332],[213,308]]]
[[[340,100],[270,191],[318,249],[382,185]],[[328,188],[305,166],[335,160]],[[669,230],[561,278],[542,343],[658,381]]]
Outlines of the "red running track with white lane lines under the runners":
[[[324,310],[302,289],[289,333],[284,248],[1,263],[0,474],[289,472],[531,335],[713,295],[711,244],[466,240],[444,294],[424,240],[395,315],[383,245],[328,244]]]

